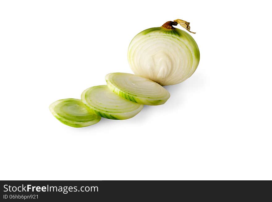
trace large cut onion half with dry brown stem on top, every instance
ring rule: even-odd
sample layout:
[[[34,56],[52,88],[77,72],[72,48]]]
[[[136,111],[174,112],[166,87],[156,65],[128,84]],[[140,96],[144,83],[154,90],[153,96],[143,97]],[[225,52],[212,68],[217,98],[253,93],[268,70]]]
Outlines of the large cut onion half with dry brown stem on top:
[[[188,22],[177,19],[144,30],[132,39],[128,61],[135,75],[160,85],[174,85],[195,72],[200,59],[198,45],[187,32],[173,27],[177,24],[191,32]]]

